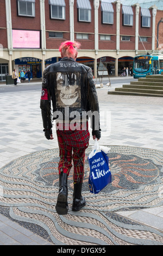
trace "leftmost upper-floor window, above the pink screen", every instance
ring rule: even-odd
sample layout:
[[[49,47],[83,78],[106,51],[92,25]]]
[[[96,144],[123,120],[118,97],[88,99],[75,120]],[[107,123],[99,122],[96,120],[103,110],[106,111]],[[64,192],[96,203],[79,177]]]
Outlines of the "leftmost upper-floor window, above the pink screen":
[[[35,17],[35,0],[17,1],[18,16]]]

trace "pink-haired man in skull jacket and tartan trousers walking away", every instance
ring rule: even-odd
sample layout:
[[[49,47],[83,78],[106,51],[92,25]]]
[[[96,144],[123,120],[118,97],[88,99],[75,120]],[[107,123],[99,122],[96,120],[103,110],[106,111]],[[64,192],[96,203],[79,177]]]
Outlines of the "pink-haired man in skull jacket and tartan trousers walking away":
[[[76,41],[62,42],[59,47],[61,60],[49,65],[43,72],[40,102],[43,131],[47,139],[53,139],[52,101],[53,120],[55,119],[59,144],[59,193],[55,206],[59,215],[68,212],[67,177],[70,174],[72,160],[74,165],[72,210],[78,211],[86,204],[82,196],[82,184],[85,149],[89,146],[90,138],[87,113],[97,113],[91,118],[92,136],[93,139],[101,137],[95,82],[91,68],[76,62],[79,47],[80,43]]]

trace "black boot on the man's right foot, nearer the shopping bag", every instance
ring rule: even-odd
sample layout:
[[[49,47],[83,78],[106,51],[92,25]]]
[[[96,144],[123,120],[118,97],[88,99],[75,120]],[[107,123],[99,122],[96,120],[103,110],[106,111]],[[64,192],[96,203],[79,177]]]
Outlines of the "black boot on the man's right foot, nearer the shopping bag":
[[[72,211],[79,211],[85,206],[85,198],[82,196],[83,183],[74,184]]]

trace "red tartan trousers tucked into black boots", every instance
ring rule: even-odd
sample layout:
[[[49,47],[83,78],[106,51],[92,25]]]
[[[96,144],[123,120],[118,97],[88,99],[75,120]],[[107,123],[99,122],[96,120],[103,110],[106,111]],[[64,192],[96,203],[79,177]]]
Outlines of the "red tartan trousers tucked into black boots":
[[[89,146],[89,130],[57,130],[59,144],[59,174],[70,174],[74,164],[73,182],[82,183],[84,178],[85,149]]]

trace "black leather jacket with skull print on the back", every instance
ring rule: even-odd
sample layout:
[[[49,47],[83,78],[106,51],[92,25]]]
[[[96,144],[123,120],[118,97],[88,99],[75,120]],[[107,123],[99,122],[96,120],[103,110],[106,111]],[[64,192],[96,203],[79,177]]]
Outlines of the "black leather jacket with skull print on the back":
[[[76,117],[74,111],[76,119],[82,119],[84,112],[98,113],[98,122],[91,121],[91,127],[100,130],[98,97],[91,68],[67,57],[49,65],[43,72],[40,108],[44,129],[50,129],[54,119],[67,119],[65,111],[68,109],[70,120]]]

